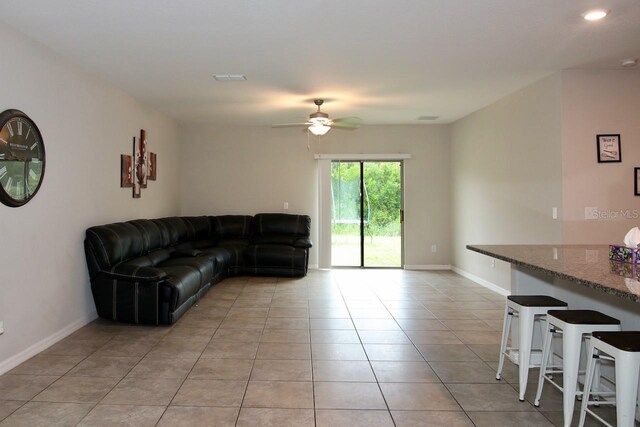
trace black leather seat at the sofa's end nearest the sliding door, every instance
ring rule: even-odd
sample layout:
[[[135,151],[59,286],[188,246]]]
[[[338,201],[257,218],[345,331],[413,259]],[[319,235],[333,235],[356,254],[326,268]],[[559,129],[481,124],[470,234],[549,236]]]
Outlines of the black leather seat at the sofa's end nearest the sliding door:
[[[247,272],[260,274],[263,269],[306,271],[307,251],[287,245],[251,245],[245,250]]]

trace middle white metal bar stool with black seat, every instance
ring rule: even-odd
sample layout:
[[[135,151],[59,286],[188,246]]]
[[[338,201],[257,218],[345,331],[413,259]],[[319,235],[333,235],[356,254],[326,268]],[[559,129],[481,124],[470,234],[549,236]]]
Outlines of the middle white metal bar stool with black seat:
[[[606,314],[594,310],[550,310],[547,313],[547,328],[542,347],[542,364],[538,378],[538,392],[534,401],[540,406],[540,396],[545,381],[549,381],[562,391],[562,407],[564,412],[564,426],[569,427],[573,418],[573,408],[578,391],[578,370],[580,367],[580,349],[582,339],[591,336],[592,332],[619,331],[620,321]],[[551,356],[551,339],[553,334],[562,334],[562,370],[547,370]],[[551,368],[556,368],[552,366]],[[558,385],[547,374],[562,372],[562,386]]]

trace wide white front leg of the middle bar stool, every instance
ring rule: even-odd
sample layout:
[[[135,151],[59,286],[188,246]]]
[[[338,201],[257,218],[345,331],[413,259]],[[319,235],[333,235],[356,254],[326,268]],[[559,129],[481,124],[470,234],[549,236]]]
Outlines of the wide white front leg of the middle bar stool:
[[[580,347],[582,333],[567,328],[562,336],[562,407],[564,426],[569,427],[573,419],[573,408],[576,403],[578,388],[578,371],[580,368]]]

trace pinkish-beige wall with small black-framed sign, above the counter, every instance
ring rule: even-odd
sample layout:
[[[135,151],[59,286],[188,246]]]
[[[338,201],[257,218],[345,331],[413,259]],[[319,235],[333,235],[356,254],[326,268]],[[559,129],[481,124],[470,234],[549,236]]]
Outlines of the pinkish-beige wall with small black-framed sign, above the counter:
[[[622,243],[629,228],[640,225],[633,188],[633,168],[640,167],[640,72],[564,71],[562,115],[564,242]],[[622,163],[598,164],[596,135],[609,133],[621,136]],[[585,207],[601,215],[586,220]]]

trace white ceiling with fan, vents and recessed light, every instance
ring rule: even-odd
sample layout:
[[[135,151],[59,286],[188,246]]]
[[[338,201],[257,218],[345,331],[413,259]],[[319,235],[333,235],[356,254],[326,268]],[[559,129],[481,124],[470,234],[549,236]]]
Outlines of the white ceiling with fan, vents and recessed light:
[[[183,123],[292,122],[314,97],[331,117],[449,123],[640,57],[638,0],[2,0],[0,21]]]

